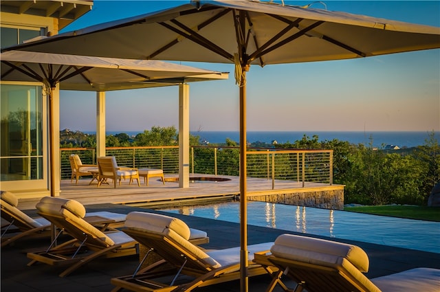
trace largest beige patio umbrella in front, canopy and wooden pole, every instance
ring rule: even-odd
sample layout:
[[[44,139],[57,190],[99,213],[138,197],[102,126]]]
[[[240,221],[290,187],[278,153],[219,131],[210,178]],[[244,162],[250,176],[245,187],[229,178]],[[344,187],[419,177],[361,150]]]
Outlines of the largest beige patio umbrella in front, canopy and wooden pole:
[[[440,47],[440,28],[263,1],[191,1],[20,49],[234,63],[240,91],[241,291],[248,290],[246,72],[250,65],[364,58]]]

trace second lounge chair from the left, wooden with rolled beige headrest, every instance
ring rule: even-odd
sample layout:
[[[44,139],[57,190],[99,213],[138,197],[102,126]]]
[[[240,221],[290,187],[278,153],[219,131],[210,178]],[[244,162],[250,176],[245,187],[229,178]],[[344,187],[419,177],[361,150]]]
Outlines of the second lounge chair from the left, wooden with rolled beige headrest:
[[[54,246],[55,238],[44,251],[29,252],[28,258],[32,261],[28,266],[36,262],[53,266],[68,265],[59,275],[64,277],[96,258],[137,254],[137,242],[124,232],[118,229],[101,231],[85,221],[85,207],[78,201],[46,196],[36,204],[36,209],[38,214],[74,239]]]

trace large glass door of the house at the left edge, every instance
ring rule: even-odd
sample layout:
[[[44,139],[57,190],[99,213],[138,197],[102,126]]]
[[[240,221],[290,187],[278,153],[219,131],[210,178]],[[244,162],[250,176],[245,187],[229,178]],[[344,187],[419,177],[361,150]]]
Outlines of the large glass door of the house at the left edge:
[[[0,113],[0,181],[42,180],[45,166],[41,86],[2,84]]]

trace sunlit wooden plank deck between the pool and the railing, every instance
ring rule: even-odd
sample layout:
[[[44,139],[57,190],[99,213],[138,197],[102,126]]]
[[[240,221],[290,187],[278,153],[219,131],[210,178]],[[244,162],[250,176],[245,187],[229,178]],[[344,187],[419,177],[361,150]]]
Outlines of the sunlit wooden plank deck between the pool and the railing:
[[[201,175],[195,175],[200,177]],[[166,179],[175,176],[165,176]],[[214,177],[213,175],[203,175],[203,177]],[[179,188],[177,182],[166,182],[165,185],[160,179],[152,178],[149,186],[146,186],[141,179],[141,186],[137,183],[129,185],[128,181],[122,181],[121,186],[113,188],[113,184],[102,184],[98,188],[96,181],[89,185],[90,178],[85,177],[75,184],[70,180],[61,181],[60,196],[66,199],[80,201],[83,205],[117,203],[117,204],[160,204],[170,203],[170,201],[188,199],[225,199],[226,197],[239,196],[239,177],[219,176],[230,179],[230,181],[199,181],[190,183],[189,188]],[[296,181],[275,181],[272,190],[272,180],[248,178],[248,196],[260,194],[277,194],[280,192],[316,192],[319,190],[335,190],[344,188],[341,185],[329,186],[322,183],[306,183],[303,188],[302,183]],[[34,209],[39,199],[21,199],[19,207],[21,210]],[[138,203],[138,204],[137,204]]]

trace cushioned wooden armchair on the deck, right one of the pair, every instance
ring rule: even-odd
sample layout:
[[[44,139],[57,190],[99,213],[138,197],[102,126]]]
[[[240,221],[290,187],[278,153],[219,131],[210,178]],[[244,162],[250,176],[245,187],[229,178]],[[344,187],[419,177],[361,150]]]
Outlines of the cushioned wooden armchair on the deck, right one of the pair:
[[[121,179],[130,179],[129,184],[133,179],[137,179],[137,186],[140,186],[137,168],[119,167],[114,156],[98,157],[98,169],[98,187],[107,179],[113,179],[114,188],[116,188],[116,181],[119,180],[121,184]]]

